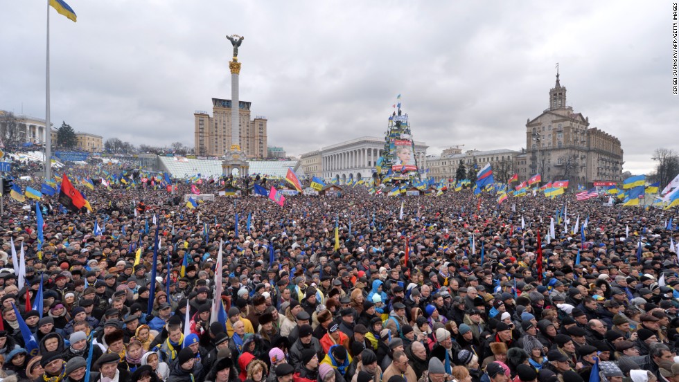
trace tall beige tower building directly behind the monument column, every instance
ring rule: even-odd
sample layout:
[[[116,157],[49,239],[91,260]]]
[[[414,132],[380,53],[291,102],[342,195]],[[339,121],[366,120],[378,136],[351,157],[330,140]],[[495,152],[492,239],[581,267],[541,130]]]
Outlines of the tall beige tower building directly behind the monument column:
[[[240,149],[247,158],[267,157],[267,118],[250,119],[252,102],[240,101]],[[195,153],[223,156],[231,147],[231,100],[212,99],[211,117],[207,111],[193,113]]]

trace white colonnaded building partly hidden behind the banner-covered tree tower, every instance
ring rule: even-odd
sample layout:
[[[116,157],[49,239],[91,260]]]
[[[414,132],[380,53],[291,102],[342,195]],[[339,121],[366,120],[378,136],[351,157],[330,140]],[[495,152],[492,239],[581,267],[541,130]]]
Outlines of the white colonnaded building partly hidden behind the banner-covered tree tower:
[[[415,141],[415,158],[418,169],[425,172],[427,168],[427,145]],[[315,161],[313,156],[320,156],[321,170],[319,175],[325,179],[337,179],[344,183],[350,180],[369,179],[376,172],[376,163],[385,147],[385,138],[363,136],[345,142],[330,145],[318,150],[318,154],[310,152],[302,154],[302,160]],[[306,174],[312,174],[313,171]],[[318,175],[317,175],[318,176]]]

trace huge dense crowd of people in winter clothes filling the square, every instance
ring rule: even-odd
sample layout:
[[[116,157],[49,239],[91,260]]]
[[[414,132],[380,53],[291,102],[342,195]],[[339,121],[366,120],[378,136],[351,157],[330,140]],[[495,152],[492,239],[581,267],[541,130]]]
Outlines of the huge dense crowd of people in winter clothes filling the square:
[[[4,199],[3,380],[679,382],[676,209],[362,186],[193,208],[175,184],[44,196],[42,251],[35,202]]]

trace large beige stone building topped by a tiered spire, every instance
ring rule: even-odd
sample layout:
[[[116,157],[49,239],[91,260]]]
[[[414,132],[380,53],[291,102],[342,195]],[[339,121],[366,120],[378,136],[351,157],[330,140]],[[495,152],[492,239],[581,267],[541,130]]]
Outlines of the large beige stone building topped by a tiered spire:
[[[595,127],[582,113],[566,104],[566,88],[549,90],[549,108],[526,123],[525,163],[519,180],[540,174],[543,182],[568,180],[570,188],[589,187],[595,181],[621,181],[623,151],[620,140]]]

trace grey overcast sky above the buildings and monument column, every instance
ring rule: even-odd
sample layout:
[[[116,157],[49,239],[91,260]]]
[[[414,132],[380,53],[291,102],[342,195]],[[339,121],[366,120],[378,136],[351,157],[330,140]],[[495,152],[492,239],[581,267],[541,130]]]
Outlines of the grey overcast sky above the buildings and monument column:
[[[44,118],[47,0],[3,0],[0,109]],[[567,103],[617,136],[624,170],[679,151],[671,1],[67,0],[50,12],[51,119],[135,145],[193,147],[193,113],[240,99],[298,155],[382,136],[402,95],[428,154],[521,149],[559,62]]]

